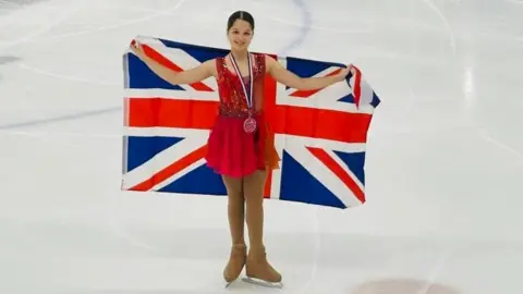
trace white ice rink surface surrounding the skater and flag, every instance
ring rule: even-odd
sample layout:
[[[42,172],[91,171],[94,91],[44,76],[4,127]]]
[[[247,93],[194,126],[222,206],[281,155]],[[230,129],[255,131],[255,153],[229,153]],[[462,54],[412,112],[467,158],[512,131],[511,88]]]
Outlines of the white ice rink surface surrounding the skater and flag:
[[[226,198],[120,192],[122,59],[149,35],[360,65],[368,203],[269,200],[281,291],[223,289]],[[523,1],[0,0],[0,293],[523,293]]]

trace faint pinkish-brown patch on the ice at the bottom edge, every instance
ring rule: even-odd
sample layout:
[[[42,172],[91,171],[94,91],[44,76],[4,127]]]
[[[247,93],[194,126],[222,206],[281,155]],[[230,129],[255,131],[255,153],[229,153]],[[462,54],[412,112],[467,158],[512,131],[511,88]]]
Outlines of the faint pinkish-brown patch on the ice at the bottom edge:
[[[459,294],[458,290],[422,280],[390,279],[370,281],[358,285],[350,294]]]

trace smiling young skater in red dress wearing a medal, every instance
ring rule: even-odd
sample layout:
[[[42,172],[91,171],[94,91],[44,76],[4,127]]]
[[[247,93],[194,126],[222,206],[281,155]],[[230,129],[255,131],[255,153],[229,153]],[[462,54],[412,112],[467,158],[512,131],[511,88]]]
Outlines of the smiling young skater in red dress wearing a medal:
[[[295,89],[316,89],[344,81],[350,66],[327,77],[302,78],[275,59],[251,53],[254,19],[245,11],[234,12],[228,21],[227,36],[231,49],[223,58],[208,60],[184,72],[173,72],[149,59],[135,42],[131,49],[156,74],[171,84],[191,84],[214,76],[218,82],[220,105],[216,124],[208,139],[206,161],[221,174],[228,192],[228,217],[232,248],[223,278],[231,283],[246,269],[251,279],[281,282],[281,274],[266,259],[263,241],[263,192],[267,172],[278,168],[279,157],[264,113],[264,78],[270,74],[277,82]],[[248,229],[248,254],[244,238]]]

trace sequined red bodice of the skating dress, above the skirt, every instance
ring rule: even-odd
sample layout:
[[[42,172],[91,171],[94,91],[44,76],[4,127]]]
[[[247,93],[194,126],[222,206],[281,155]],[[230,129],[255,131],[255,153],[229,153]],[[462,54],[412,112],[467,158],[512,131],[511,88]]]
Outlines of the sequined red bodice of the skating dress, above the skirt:
[[[264,106],[265,57],[253,54],[253,113],[259,112]],[[218,90],[220,95],[219,113],[228,117],[245,117],[248,114],[248,105],[242,86],[250,93],[250,77],[238,78],[234,68],[229,69],[224,58],[217,59]]]

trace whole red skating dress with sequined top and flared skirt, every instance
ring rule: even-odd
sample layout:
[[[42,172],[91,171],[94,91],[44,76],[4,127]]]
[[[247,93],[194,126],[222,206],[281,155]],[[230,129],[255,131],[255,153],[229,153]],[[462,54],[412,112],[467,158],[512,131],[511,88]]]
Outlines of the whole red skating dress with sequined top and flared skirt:
[[[224,58],[218,58],[216,63],[219,113],[208,138],[205,159],[209,168],[222,175],[241,177],[256,170],[278,168],[279,157],[264,112],[265,56],[252,53],[252,57],[253,118],[256,120],[253,133],[245,132],[243,126],[248,118],[248,107],[242,82],[234,68],[227,68]],[[248,75],[244,76],[247,93],[248,82]]]

